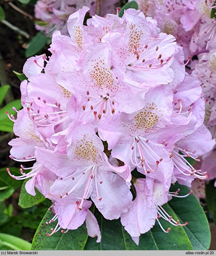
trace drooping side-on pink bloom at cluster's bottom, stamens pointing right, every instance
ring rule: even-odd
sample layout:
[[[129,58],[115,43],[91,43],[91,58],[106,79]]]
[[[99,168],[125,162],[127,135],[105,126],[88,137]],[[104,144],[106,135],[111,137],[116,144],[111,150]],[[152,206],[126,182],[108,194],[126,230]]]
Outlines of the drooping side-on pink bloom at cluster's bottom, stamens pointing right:
[[[136,198],[132,202],[132,206],[129,211],[122,213],[121,223],[125,227],[125,230],[131,235],[134,242],[139,245],[139,236],[150,230],[157,221],[161,229],[168,233],[170,227],[164,230],[159,219],[163,218],[173,226],[185,226],[187,221],[183,224],[179,220],[174,220],[172,216],[167,213],[162,205],[164,205],[172,196],[178,196],[178,189],[176,192],[165,192],[164,186],[161,183],[154,182],[154,179],[139,178],[134,181],[134,187],[136,190]]]

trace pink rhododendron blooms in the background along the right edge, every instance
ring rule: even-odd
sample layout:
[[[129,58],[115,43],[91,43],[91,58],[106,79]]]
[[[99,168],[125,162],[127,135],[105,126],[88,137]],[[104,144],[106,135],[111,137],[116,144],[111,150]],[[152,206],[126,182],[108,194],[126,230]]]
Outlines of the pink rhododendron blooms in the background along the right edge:
[[[203,97],[206,100],[204,123],[215,139],[216,8],[214,2],[213,0],[137,1],[140,10],[157,20],[161,31],[176,37],[177,43],[183,47],[185,59],[195,55],[187,72],[201,82]],[[215,149],[205,154],[202,160],[202,168],[208,170],[209,179],[215,178]]]

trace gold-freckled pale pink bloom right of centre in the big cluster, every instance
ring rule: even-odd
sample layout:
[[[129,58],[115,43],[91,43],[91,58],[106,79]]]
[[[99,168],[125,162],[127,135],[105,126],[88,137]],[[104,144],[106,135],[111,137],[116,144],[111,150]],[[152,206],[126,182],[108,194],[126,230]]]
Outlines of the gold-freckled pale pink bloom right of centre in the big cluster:
[[[113,157],[159,179],[169,188],[172,172],[170,153],[166,150],[166,141],[157,137],[157,132],[170,123],[171,114],[172,91],[161,85],[146,94],[143,109],[129,115],[118,114],[114,122],[109,119],[102,122],[99,136],[108,142]]]

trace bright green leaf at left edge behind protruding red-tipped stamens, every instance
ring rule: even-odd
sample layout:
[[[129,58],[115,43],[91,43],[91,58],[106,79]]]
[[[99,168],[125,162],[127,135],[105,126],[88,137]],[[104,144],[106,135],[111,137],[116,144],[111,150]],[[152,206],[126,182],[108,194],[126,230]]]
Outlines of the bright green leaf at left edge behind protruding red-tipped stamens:
[[[13,132],[14,122],[12,122],[6,115],[6,111],[8,111],[9,115],[16,114],[12,107],[20,110],[22,108],[20,99],[8,103],[4,108],[0,110],[0,131]]]

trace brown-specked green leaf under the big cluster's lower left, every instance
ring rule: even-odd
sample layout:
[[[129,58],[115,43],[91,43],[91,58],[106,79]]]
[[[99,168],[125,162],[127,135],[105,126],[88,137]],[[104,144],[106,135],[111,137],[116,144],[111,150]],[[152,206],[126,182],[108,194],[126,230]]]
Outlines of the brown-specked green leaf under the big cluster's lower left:
[[[85,224],[65,234],[59,231],[49,237],[46,233],[50,233],[50,228],[54,228],[57,223],[46,225],[45,222],[53,216],[51,210],[46,212],[33,238],[31,250],[83,250],[88,238]]]

